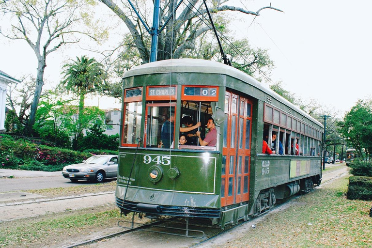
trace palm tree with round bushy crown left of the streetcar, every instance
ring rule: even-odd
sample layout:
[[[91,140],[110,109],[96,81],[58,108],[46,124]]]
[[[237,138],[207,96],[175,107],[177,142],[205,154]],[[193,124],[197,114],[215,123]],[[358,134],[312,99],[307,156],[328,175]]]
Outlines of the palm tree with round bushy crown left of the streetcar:
[[[86,55],[81,58],[76,57],[76,61],[63,65],[64,74],[62,85],[69,92],[77,93],[79,96],[78,108],[78,136],[74,138],[73,148],[77,148],[78,140],[83,131],[81,121],[84,114],[84,100],[87,93],[102,91],[105,84],[106,73],[103,65],[95,59],[90,59]]]

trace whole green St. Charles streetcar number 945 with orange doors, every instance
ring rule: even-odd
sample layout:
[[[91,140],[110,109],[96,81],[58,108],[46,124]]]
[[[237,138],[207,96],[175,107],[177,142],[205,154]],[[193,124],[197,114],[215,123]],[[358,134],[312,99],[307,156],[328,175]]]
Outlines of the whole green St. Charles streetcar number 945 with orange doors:
[[[207,218],[223,229],[321,183],[322,124],[231,66],[151,62],[124,73],[123,92],[115,197],[124,214]],[[202,146],[209,120],[216,144]],[[276,153],[263,154],[273,133]]]

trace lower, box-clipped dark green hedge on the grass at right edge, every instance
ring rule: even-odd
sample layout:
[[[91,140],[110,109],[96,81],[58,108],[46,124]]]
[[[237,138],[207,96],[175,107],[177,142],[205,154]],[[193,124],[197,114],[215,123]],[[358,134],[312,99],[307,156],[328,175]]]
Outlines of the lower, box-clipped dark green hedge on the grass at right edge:
[[[350,200],[372,200],[372,177],[349,177],[346,197]]]

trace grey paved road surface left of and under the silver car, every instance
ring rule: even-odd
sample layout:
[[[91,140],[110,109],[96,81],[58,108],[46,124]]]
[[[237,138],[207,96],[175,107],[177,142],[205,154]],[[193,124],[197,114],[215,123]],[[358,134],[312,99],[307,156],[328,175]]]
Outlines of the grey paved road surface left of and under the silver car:
[[[13,178],[9,178],[10,176],[13,176]],[[0,169],[0,193],[29,189],[72,187],[86,184],[93,183],[87,181],[73,183],[64,178],[61,171],[47,172]]]

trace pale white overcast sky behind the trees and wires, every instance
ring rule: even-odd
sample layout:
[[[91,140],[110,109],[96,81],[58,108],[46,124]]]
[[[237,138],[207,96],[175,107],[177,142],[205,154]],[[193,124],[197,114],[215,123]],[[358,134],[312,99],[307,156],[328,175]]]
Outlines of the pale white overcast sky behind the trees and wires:
[[[257,11],[270,2],[284,13],[265,9],[254,21],[253,16],[233,13],[230,29],[235,31],[236,37],[247,37],[251,46],[268,50],[276,66],[270,75],[271,81],[282,81],[284,89],[296,97],[314,99],[334,109],[338,117],[343,117],[357,99],[372,98],[369,76],[372,1],[233,0],[232,3]],[[109,13],[106,6],[100,6],[100,11]],[[124,26],[118,27],[115,32],[124,30]],[[112,34],[110,41],[115,39],[115,33]],[[62,65],[68,59],[87,53],[80,47],[50,54],[47,80],[59,81]],[[0,54],[0,70],[10,76],[20,78],[36,74],[35,55],[24,41],[10,42],[0,37]],[[98,98],[88,99],[87,103],[97,106]],[[102,97],[99,107],[120,108],[121,105],[119,101]]]

